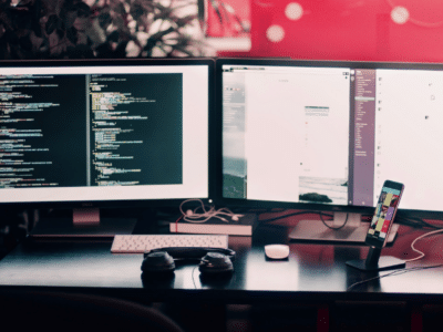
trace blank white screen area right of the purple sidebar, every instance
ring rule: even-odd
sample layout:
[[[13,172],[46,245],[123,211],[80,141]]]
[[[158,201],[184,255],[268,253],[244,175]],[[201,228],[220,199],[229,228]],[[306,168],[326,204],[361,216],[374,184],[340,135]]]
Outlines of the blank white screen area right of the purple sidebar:
[[[443,73],[377,71],[375,186],[399,178],[401,207],[441,210],[443,188]]]

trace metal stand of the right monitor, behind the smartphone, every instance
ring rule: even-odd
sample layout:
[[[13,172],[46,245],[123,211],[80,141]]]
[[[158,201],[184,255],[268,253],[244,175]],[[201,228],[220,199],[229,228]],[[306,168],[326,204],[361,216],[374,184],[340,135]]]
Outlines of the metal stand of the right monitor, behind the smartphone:
[[[348,215],[348,221],[346,221]],[[361,221],[361,214],[334,212],[333,220],[326,220],[331,229],[321,220],[300,220],[290,231],[289,239],[303,241],[324,241],[363,245],[370,222]],[[346,222],[344,227],[341,227]],[[340,228],[341,227],[341,228]],[[388,243],[393,242],[399,225],[391,227]]]

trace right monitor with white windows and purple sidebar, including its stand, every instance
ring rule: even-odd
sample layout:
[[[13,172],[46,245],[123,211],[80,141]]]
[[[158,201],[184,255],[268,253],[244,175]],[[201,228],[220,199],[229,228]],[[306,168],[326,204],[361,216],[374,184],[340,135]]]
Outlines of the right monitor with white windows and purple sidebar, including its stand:
[[[443,216],[443,65],[224,59],[216,75],[224,203],[358,226],[391,179],[405,186],[399,215]],[[291,237],[353,241],[357,226]]]

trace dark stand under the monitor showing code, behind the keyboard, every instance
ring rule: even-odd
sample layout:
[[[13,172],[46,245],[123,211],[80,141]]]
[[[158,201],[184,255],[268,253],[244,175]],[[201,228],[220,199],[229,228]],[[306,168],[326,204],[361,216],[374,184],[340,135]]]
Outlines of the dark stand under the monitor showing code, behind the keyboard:
[[[101,218],[99,208],[78,208],[68,217],[41,218],[31,232],[34,238],[113,238],[132,234],[136,218]]]

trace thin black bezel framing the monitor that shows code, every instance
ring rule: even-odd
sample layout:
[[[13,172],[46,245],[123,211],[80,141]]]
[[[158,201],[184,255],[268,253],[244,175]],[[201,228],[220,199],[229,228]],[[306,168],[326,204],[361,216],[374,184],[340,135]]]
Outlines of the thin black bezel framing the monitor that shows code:
[[[215,60],[212,58],[183,58],[183,59],[79,59],[79,60],[4,60],[0,61],[1,68],[62,68],[62,66],[171,66],[171,65],[204,65],[208,69],[208,195],[196,197],[204,203],[213,201],[215,189],[215,141],[216,141],[216,117],[214,116],[215,102]],[[110,200],[33,200],[33,201],[0,201],[0,208],[21,209],[75,209],[75,208],[150,208],[150,207],[178,207],[188,199],[183,198],[146,198],[146,199],[110,199]]]

